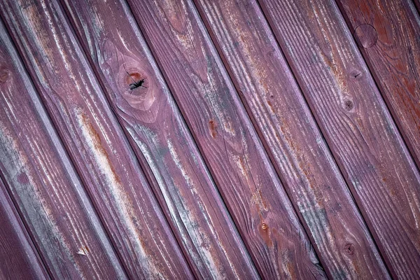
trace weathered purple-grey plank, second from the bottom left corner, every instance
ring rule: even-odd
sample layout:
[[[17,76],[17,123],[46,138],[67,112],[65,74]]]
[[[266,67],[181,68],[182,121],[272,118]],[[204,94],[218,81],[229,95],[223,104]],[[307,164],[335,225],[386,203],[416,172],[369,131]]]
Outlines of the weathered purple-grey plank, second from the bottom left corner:
[[[0,73],[0,171],[48,272],[55,279],[124,279],[111,241],[1,22]]]

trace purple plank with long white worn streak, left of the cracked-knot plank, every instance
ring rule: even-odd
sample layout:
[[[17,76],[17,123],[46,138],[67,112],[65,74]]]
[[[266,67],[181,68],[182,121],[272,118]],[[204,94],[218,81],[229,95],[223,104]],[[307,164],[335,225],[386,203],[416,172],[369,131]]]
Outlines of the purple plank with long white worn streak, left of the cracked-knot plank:
[[[2,2],[8,28],[129,276],[192,277],[58,3]]]

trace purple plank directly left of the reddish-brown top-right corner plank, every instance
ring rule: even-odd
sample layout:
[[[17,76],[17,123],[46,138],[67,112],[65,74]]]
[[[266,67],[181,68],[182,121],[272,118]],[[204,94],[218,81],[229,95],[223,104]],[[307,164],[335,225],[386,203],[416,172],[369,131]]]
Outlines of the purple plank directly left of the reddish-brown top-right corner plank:
[[[393,276],[420,275],[420,178],[334,1],[261,0]]]

